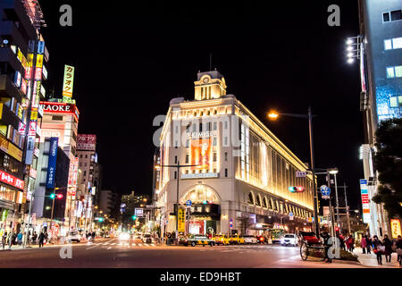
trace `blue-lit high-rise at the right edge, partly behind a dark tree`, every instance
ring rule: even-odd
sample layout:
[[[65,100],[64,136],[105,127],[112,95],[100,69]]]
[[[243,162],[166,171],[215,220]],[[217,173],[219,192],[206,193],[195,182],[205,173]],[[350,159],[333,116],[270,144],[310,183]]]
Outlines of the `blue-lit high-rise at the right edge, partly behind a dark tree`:
[[[389,233],[389,217],[382,204],[371,198],[379,185],[373,165],[375,131],[382,120],[402,116],[402,5],[398,0],[359,0],[360,35],[349,39],[350,50],[360,60],[361,111],[364,114],[364,145],[360,180],[364,223],[371,235]],[[353,54],[353,53],[352,53]],[[367,198],[364,196],[368,195]]]

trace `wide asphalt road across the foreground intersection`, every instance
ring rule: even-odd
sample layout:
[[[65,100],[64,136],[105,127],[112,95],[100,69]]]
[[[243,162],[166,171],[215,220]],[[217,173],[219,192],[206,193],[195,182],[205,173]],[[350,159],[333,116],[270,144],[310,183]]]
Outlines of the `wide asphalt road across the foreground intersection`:
[[[139,240],[104,240],[71,245],[71,258],[61,247],[0,251],[0,268],[361,268],[353,262],[302,261],[297,247],[279,245],[160,246]],[[64,253],[67,253],[65,251]]]

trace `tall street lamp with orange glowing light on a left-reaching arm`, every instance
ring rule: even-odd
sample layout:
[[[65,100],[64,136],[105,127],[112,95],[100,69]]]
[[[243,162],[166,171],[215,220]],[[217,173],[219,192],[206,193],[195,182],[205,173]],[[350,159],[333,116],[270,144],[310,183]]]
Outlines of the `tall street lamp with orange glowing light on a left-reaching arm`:
[[[313,172],[313,189],[314,189],[314,224],[315,224],[315,235],[317,238],[319,237],[320,226],[318,224],[318,211],[317,211],[317,188],[315,186],[315,171],[314,171],[314,145],[313,145],[313,115],[311,113],[311,106],[308,106],[308,114],[279,114],[276,112],[270,112],[268,114],[268,118],[270,119],[277,119],[279,115],[289,116],[289,117],[297,117],[297,118],[304,118],[308,119],[308,133],[310,137],[310,160],[311,160],[311,170]]]

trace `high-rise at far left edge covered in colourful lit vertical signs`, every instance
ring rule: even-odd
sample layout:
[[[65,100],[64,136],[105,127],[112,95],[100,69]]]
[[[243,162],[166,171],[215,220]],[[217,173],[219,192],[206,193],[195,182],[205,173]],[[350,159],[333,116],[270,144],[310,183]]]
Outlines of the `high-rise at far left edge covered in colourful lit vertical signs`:
[[[49,54],[38,1],[0,2],[0,231],[28,223]]]

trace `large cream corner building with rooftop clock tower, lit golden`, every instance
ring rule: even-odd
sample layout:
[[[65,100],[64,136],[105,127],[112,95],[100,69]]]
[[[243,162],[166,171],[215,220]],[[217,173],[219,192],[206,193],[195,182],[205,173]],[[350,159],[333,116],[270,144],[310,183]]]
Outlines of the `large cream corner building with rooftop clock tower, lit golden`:
[[[296,178],[306,164],[236,97],[226,95],[219,71],[198,72],[195,100],[172,99],[159,149],[154,159],[162,165],[155,173],[155,221],[165,231],[176,229],[177,176],[180,207],[191,202],[187,233],[311,228],[311,177]],[[180,173],[163,167],[178,162],[194,166],[182,167]],[[303,191],[290,192],[290,186]]]

